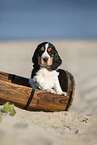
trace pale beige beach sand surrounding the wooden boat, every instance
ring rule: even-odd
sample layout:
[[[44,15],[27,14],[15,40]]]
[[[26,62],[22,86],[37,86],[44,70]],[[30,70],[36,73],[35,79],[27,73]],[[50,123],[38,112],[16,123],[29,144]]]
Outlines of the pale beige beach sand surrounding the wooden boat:
[[[0,42],[0,71],[30,77],[41,41]],[[97,40],[53,40],[76,89],[68,112],[29,112],[15,107],[0,122],[0,145],[97,145]],[[0,107],[2,108],[2,106]]]

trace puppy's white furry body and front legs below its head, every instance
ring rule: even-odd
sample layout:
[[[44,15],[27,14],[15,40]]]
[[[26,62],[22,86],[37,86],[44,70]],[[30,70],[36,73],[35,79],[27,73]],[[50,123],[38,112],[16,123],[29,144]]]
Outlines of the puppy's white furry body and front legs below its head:
[[[60,87],[58,75],[59,73],[56,72],[56,70],[49,71],[46,68],[41,68],[36,76],[29,80],[29,83],[33,88],[35,87],[51,93],[66,95]]]

